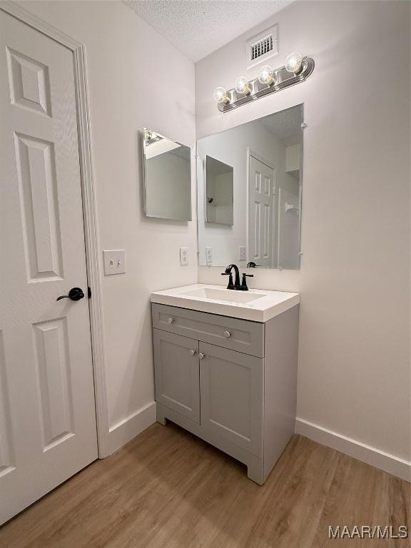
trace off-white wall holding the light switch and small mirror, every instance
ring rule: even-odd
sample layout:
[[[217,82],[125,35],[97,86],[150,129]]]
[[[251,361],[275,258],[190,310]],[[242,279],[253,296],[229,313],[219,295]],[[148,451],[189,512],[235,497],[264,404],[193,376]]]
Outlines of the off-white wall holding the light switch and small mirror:
[[[155,420],[150,292],[197,281],[196,220],[143,216],[138,135],[146,126],[193,146],[194,66],[119,1],[19,4],[86,44],[101,257],[103,249],[126,249],[126,274],[103,278],[109,442],[115,450]],[[164,91],[166,81],[173,86]],[[181,245],[190,253],[186,267],[180,266]]]

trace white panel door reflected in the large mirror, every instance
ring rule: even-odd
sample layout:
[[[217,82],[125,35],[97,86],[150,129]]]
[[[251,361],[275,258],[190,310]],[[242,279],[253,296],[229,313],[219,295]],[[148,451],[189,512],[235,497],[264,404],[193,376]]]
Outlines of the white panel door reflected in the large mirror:
[[[268,268],[275,267],[275,182],[274,170],[250,156],[248,188],[248,260]]]

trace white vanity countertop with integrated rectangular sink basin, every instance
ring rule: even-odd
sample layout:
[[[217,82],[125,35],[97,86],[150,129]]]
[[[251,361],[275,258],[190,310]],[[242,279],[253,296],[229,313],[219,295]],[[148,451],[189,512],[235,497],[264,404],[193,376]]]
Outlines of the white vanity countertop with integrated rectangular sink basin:
[[[298,293],[253,289],[236,291],[223,285],[196,283],[151,293],[151,302],[178,306],[254,322],[270,318],[300,303]]]

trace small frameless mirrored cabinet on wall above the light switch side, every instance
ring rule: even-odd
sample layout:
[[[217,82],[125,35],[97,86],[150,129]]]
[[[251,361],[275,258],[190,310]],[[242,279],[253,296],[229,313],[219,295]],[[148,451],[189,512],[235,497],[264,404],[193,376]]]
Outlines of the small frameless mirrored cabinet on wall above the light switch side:
[[[143,128],[144,213],[191,220],[191,148]]]

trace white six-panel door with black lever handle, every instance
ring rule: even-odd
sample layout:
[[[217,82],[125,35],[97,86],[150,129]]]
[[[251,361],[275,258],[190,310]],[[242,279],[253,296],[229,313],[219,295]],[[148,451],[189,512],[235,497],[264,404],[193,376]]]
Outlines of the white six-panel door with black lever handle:
[[[97,442],[73,54],[4,11],[0,102],[1,523]]]

